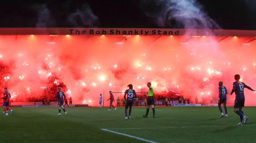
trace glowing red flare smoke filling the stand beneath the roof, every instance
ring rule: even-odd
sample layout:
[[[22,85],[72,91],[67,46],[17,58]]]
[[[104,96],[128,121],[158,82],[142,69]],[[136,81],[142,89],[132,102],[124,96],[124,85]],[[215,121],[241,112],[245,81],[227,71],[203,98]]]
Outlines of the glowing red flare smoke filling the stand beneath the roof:
[[[129,36],[127,42],[120,41],[123,43],[115,43],[119,42],[118,36],[108,35],[89,39],[27,35],[17,36],[17,40],[11,35],[0,36],[0,62],[12,66],[9,82],[2,79],[1,87],[7,87],[22,101],[41,98],[40,87],[48,87],[51,73],[51,80],[55,81],[52,84],[66,85],[73,101],[90,106],[99,105],[103,91],[106,100],[110,90],[122,92],[128,84],[137,91],[151,82],[156,94],[168,95],[163,92],[167,86],[191,101],[195,96],[199,101],[210,96],[217,100],[219,81],[231,92],[235,74],[256,89],[255,41],[242,45],[244,37],[228,37],[220,42],[217,38],[194,37],[186,42],[189,44],[181,44],[183,36],[161,36],[156,41],[154,36]],[[122,99],[123,95],[114,96]],[[227,98],[227,104],[232,106],[235,95],[228,94]],[[255,106],[254,92],[245,90],[245,98],[246,106]]]

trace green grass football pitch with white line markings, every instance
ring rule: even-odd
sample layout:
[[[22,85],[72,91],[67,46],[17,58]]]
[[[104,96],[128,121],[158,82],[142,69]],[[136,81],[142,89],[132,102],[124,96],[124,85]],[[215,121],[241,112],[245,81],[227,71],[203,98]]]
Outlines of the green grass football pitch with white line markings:
[[[244,107],[245,125],[228,107],[228,118],[220,118],[218,107],[133,107],[124,119],[124,107],[14,108],[2,113],[0,142],[255,142],[256,107]],[[222,107],[224,111],[224,107]],[[128,109],[129,111],[129,109]]]

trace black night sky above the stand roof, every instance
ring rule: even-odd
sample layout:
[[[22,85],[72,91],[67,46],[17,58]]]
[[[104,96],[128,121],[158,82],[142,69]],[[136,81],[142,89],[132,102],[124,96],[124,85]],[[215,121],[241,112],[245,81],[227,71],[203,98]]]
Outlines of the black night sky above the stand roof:
[[[177,0],[51,0],[51,1],[1,1],[0,27],[99,27],[99,28],[209,28],[256,30],[256,0],[180,0],[195,2],[206,17],[218,26],[191,24],[183,17],[165,19],[159,16],[166,3]],[[189,4],[191,5],[191,4]],[[166,8],[166,7],[165,7]],[[178,13],[183,13],[180,9]],[[195,14],[197,15],[197,14]],[[197,19],[193,19],[197,22]],[[206,19],[208,20],[208,19]],[[189,24],[188,24],[189,25]],[[208,24],[207,24],[208,25]],[[214,24],[215,25],[215,24]]]

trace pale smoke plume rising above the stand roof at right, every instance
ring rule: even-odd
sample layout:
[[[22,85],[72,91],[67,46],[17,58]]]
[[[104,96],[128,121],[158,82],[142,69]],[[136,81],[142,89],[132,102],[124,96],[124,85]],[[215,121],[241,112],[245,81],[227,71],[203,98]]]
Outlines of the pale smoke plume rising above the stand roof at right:
[[[162,28],[220,29],[196,0],[142,0],[141,7]]]

